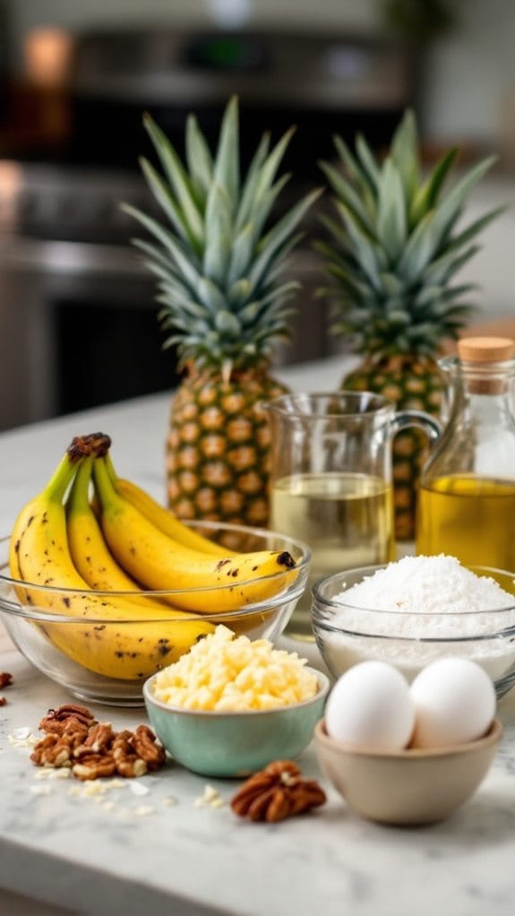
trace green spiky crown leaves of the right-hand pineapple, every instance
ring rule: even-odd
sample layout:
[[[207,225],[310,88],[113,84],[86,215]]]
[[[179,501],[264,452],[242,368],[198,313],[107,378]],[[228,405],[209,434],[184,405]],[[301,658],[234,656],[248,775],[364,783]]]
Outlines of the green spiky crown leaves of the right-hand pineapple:
[[[320,168],[333,192],[336,216],[322,214],[326,240],[316,240],[335,305],[333,333],[348,333],[357,352],[435,355],[456,337],[473,306],[475,284],[453,285],[478,251],[477,235],[503,211],[462,227],[467,196],[495,161],[482,159],[445,192],[458,154],[451,148],[423,178],[418,133],[408,109],[379,162],[363,136],[352,152],[335,137],[338,165]]]

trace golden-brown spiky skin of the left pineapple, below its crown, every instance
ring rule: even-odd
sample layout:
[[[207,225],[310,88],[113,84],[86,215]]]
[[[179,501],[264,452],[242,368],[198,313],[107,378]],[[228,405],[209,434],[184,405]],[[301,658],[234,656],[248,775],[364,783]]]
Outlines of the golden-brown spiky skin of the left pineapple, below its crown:
[[[198,373],[172,399],[166,440],[169,507],[178,518],[266,528],[270,422],[263,404],[288,388],[266,369]]]

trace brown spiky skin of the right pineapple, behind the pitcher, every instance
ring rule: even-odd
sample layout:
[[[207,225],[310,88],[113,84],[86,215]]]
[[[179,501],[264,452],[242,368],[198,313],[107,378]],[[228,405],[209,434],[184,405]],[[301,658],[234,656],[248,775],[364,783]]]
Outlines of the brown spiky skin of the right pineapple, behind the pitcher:
[[[398,410],[424,410],[441,416],[445,380],[429,356],[368,358],[344,376],[341,388],[373,391],[390,398]],[[420,472],[429,454],[427,436],[419,429],[398,433],[392,443],[395,540],[413,540]]]

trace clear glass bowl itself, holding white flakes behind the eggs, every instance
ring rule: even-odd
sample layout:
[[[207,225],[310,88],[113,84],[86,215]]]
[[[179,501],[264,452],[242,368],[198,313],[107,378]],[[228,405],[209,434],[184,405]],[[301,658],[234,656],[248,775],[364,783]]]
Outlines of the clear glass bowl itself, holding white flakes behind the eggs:
[[[327,668],[338,678],[359,661],[388,661],[413,681],[431,661],[459,656],[477,661],[495,684],[498,698],[515,683],[515,574],[469,566],[513,594],[510,605],[461,614],[416,614],[345,604],[341,592],[384,565],[334,573],[313,587],[311,626]]]

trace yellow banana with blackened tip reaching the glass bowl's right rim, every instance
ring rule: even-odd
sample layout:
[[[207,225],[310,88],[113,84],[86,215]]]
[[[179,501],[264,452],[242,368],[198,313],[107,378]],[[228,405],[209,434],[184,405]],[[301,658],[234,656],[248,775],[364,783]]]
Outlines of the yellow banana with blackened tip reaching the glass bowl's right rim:
[[[178,544],[123,499],[103,458],[93,463],[93,479],[103,535],[114,557],[146,587],[179,590],[173,598],[177,607],[206,614],[241,610],[279,594],[297,575],[287,551],[219,558]]]

